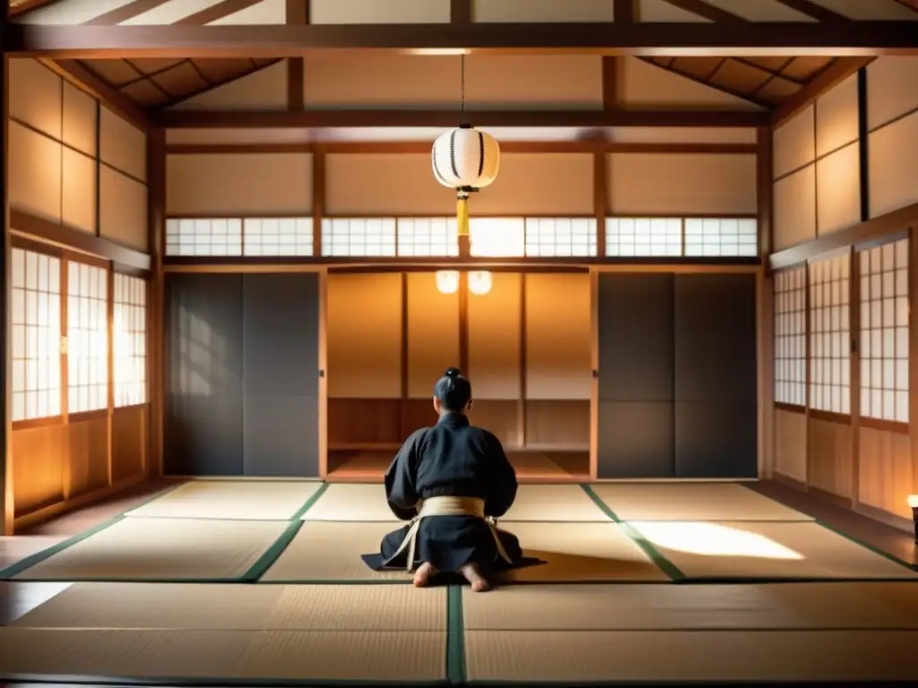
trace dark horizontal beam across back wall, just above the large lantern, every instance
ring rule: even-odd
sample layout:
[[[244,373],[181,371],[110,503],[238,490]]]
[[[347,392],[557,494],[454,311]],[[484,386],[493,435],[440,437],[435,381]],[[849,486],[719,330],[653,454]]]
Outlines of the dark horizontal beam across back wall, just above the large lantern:
[[[762,127],[770,113],[744,110],[573,110],[469,111],[477,127],[602,128],[602,127]],[[164,110],[154,114],[164,128],[442,128],[454,127],[452,110],[283,110],[194,111]]]

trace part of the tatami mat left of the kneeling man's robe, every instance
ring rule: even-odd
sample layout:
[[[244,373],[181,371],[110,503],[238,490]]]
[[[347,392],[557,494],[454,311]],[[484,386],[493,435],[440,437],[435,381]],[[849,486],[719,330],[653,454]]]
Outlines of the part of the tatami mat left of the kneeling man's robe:
[[[373,571],[360,558],[375,554],[397,523],[307,521],[262,581],[408,580],[405,571]]]

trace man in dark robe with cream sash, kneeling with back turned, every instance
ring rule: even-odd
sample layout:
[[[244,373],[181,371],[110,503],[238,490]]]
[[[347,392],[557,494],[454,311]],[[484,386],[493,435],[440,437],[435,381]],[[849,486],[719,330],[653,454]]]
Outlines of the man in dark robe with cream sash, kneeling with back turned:
[[[434,387],[434,427],[414,432],[386,472],[386,500],[409,526],[386,535],[374,568],[413,570],[416,585],[437,573],[461,572],[487,590],[491,571],[526,565],[520,543],[495,518],[513,504],[517,479],[498,438],[471,426],[472,386],[450,368]]]

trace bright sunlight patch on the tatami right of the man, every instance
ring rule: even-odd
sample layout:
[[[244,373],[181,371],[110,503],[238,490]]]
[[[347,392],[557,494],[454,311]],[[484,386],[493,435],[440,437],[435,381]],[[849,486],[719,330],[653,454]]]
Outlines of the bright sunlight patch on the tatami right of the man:
[[[714,523],[633,523],[658,547],[703,557],[802,560],[803,555],[774,540]]]

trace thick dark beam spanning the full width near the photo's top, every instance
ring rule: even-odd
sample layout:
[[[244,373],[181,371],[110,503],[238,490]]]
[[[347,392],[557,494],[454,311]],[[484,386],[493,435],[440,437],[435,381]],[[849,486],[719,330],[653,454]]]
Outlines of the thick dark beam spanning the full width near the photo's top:
[[[50,26],[8,24],[12,56],[298,57],[317,49],[681,56],[918,54],[912,22]]]

